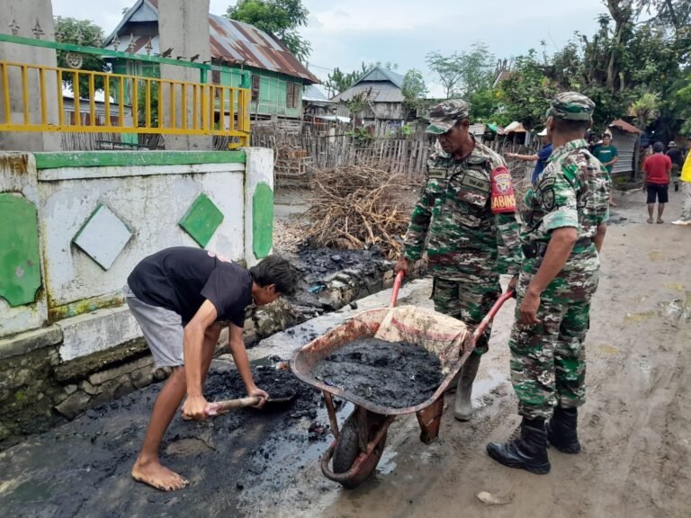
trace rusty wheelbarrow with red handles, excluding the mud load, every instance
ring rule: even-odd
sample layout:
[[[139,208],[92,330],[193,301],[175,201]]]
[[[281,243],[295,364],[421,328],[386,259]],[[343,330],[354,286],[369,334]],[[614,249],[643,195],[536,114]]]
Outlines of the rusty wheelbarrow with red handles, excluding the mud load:
[[[305,383],[319,388],[324,394],[334,441],[321,459],[321,471],[325,477],[338,482],[343,487],[354,488],[359,486],[376,469],[386,445],[386,435],[389,426],[397,415],[417,415],[417,423],[420,425],[421,430],[420,441],[425,444],[435,442],[439,434],[439,424],[444,411],[444,392],[446,388],[454,380],[458,372],[461,371],[463,363],[475,347],[476,340],[487,329],[489,323],[497,315],[499,308],[507,299],[513,297],[513,291],[499,297],[487,316],[482,319],[480,325],[477,326],[472,334],[467,332],[461,340],[461,346],[456,349],[447,347],[447,344],[451,344],[451,339],[448,342],[444,340],[441,343],[437,342],[436,348],[430,348],[426,343],[426,335],[435,335],[438,339],[441,336],[439,329],[442,323],[448,324],[449,321],[453,321],[456,325],[465,328],[462,322],[434,311],[408,307],[417,311],[425,311],[427,313],[426,318],[428,319],[425,325],[407,326],[407,332],[412,333],[417,338],[421,338],[421,341],[417,341],[415,338],[408,339],[407,341],[416,344],[425,343],[424,346],[427,350],[437,354],[444,369],[442,384],[436,388],[435,393],[431,397],[428,397],[426,401],[417,406],[405,408],[380,406],[368,401],[364,397],[346,392],[343,388],[328,385],[325,380],[318,380],[312,371],[329,354],[335,353],[341,346],[359,338],[377,335],[377,331],[386,319],[389,319],[386,322],[390,324],[390,310],[396,306],[402,279],[403,274],[399,272],[394,281],[389,308],[363,311],[363,313],[351,318],[341,326],[331,329],[326,335],[319,336],[311,341],[310,344],[306,344],[292,356],[291,370],[293,374]],[[392,311],[405,308],[395,308]],[[440,326],[435,326],[434,319],[440,322]],[[433,339],[430,339],[431,341]],[[440,344],[441,347],[439,347]],[[354,404],[353,413],[346,418],[340,429],[337,423],[336,408],[333,401],[334,396]],[[332,464],[331,468],[329,463]]]

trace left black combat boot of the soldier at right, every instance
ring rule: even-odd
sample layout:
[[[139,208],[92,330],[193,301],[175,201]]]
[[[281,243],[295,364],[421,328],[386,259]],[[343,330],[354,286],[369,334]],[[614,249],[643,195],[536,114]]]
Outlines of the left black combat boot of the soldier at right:
[[[547,458],[547,432],[543,419],[523,418],[521,435],[509,442],[489,442],[489,457],[509,468],[519,468],[545,475],[550,472]]]

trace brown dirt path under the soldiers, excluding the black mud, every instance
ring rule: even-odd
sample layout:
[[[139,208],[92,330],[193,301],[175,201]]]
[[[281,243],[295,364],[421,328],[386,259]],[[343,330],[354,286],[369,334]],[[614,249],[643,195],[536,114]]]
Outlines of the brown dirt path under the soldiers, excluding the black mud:
[[[482,409],[470,424],[444,415],[440,440],[425,446],[417,440],[415,419],[401,419],[390,433],[385,474],[344,491],[330,483],[325,488],[312,465],[296,484],[301,493],[287,488],[251,514],[691,515],[691,228],[645,224],[638,193],[619,201],[614,219],[624,218],[626,224],[611,227],[606,239],[588,335],[588,404],[580,413],[580,455],[552,450],[552,473],[539,477],[499,466],[485,453],[488,441],[505,440],[519,423],[507,382],[513,310],[507,307],[480,371],[476,404]],[[677,215],[673,199],[667,219]],[[476,498],[481,491],[508,503],[482,504]]]

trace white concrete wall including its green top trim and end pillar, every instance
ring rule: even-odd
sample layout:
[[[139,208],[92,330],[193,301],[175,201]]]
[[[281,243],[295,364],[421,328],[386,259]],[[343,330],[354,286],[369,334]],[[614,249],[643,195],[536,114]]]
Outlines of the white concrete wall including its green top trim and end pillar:
[[[0,195],[12,193],[13,202],[21,196],[37,211],[42,278],[31,303],[10,308],[0,292],[0,336],[120,305],[122,285],[143,257],[166,246],[200,246],[194,230],[180,223],[185,217],[192,227],[199,218],[206,223],[209,207],[220,216],[202,237],[204,247],[249,265],[271,248],[253,244],[255,235],[265,243],[272,230],[265,228],[273,219],[269,149],[2,154],[0,168]],[[0,279],[0,290],[17,282]]]

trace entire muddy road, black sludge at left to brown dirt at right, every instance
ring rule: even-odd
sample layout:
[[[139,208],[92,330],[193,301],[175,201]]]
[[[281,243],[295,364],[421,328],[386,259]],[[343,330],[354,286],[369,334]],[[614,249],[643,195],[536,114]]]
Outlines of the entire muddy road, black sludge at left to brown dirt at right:
[[[678,197],[670,195],[669,221],[678,215]],[[487,442],[507,439],[519,423],[508,382],[507,304],[480,366],[474,419],[455,422],[447,408],[439,440],[426,446],[415,417],[398,418],[380,469],[358,489],[322,477],[328,419],[309,392],[272,414],[243,410],[203,424],[176,419],[164,458],[190,487],[164,494],[137,484],[129,471],[159,389],[152,386],[0,453],[3,515],[687,518],[691,228],[647,225],[642,193],[617,201],[588,335],[583,451],[551,450],[549,475],[504,468],[485,453]],[[406,302],[428,307],[429,288],[417,281]],[[321,332],[310,323],[305,329]],[[290,349],[309,337],[274,336],[256,351]],[[228,369],[216,362],[214,376],[225,380],[233,375]],[[223,383],[214,384],[214,397],[237,388]],[[480,492],[503,505],[481,503]]]

